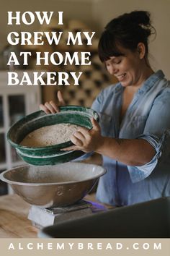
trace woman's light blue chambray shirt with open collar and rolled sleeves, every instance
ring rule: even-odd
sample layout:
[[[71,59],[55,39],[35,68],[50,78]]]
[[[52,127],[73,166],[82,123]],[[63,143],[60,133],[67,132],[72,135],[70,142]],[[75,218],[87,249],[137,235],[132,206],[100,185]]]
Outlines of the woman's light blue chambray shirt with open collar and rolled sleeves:
[[[107,174],[99,179],[97,199],[117,206],[170,195],[170,82],[161,70],[152,74],[135,93],[120,124],[123,90],[120,82],[111,85],[91,106],[100,116],[102,135],[143,138],[156,155],[143,166],[125,166],[103,156]]]

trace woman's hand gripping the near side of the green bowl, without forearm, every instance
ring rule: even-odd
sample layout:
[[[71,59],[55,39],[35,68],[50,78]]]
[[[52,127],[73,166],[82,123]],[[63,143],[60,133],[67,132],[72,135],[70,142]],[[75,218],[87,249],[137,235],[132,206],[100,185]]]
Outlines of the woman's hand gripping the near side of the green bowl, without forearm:
[[[80,127],[74,135],[71,136],[73,146],[63,150],[81,150],[86,153],[97,150],[102,143],[101,129],[98,122],[91,118],[92,129]]]

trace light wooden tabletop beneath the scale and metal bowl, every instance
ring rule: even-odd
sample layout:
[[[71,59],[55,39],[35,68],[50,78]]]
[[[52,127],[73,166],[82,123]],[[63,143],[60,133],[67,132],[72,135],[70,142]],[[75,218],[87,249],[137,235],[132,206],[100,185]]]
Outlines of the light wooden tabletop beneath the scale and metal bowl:
[[[95,201],[95,195],[87,195],[86,200]],[[30,205],[18,195],[0,196],[0,238],[35,238],[37,229],[27,219]]]

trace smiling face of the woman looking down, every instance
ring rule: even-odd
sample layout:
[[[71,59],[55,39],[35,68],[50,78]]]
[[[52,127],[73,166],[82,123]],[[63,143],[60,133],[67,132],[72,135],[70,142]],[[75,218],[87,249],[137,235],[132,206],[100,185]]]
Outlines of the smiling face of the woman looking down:
[[[138,51],[120,48],[122,56],[111,56],[105,61],[109,74],[115,75],[122,86],[138,85],[143,78],[143,58]]]

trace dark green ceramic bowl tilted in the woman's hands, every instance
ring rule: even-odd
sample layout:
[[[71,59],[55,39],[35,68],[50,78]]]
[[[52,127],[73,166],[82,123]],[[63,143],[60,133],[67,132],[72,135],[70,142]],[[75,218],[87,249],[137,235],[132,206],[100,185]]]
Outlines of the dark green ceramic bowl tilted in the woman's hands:
[[[81,106],[63,106],[56,114],[45,114],[37,111],[17,121],[7,134],[7,139],[12,147],[16,148],[18,155],[27,163],[35,166],[55,165],[66,163],[84,155],[82,151],[63,151],[63,148],[73,145],[69,140],[58,145],[40,148],[31,148],[19,145],[26,135],[40,127],[53,124],[77,124],[87,129],[92,128],[90,118],[94,117],[99,121],[96,111]]]

